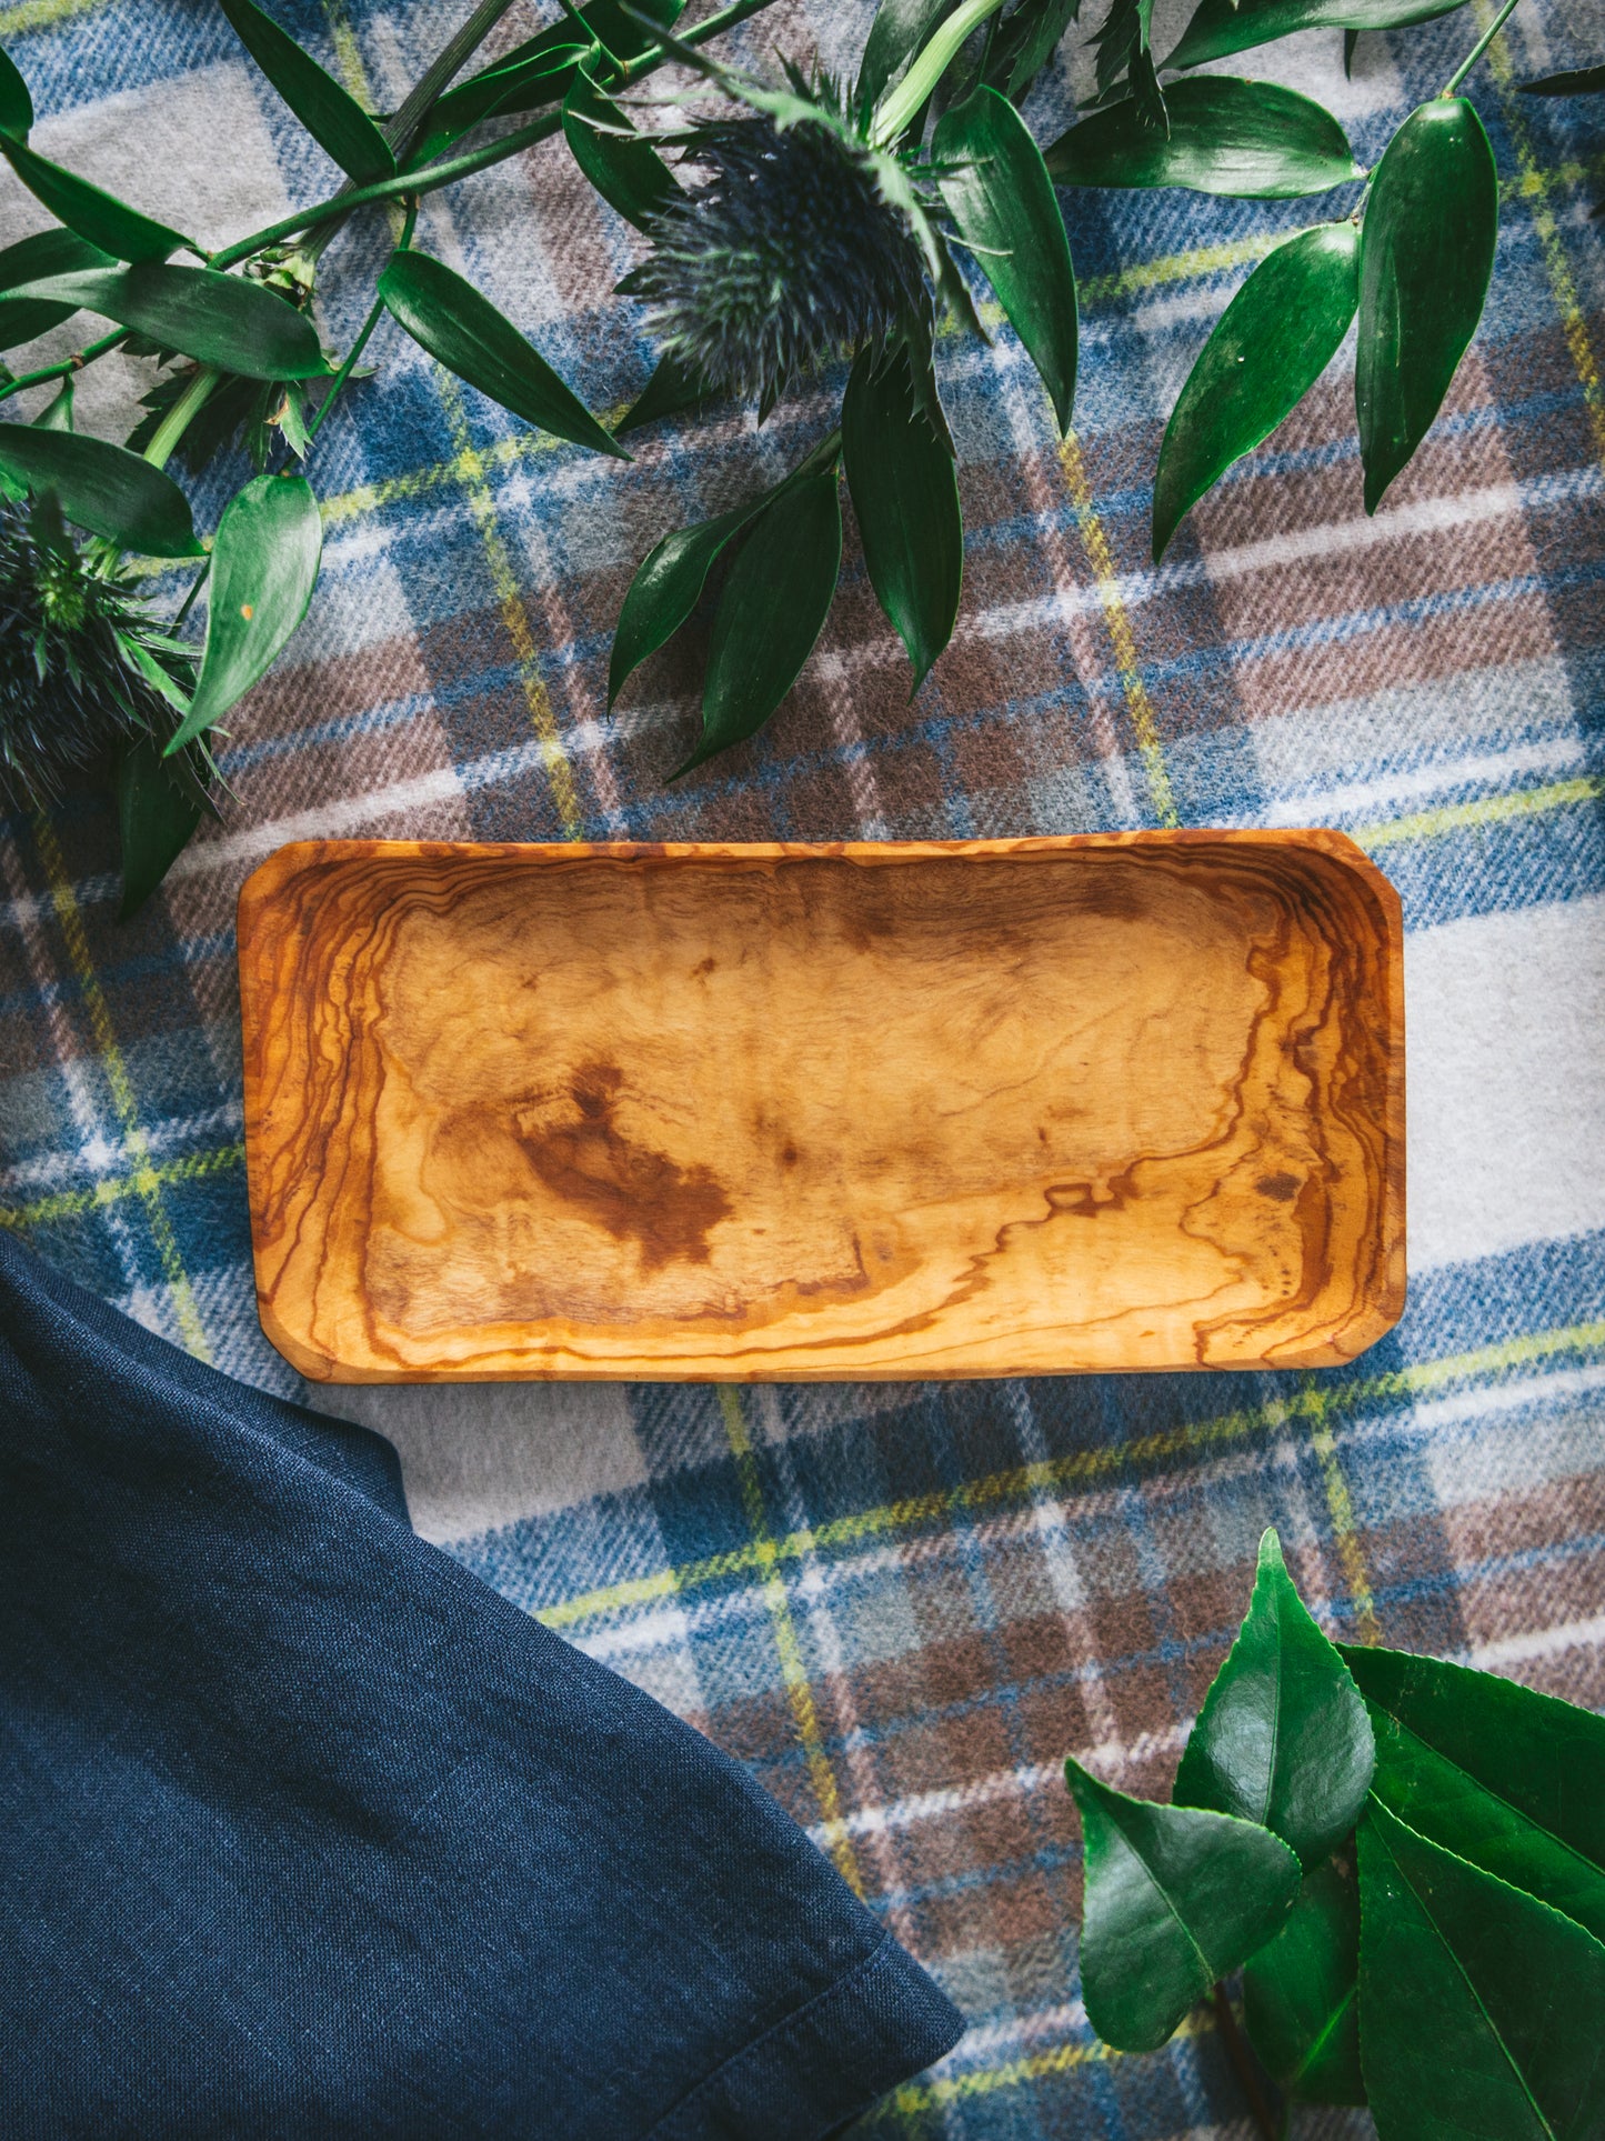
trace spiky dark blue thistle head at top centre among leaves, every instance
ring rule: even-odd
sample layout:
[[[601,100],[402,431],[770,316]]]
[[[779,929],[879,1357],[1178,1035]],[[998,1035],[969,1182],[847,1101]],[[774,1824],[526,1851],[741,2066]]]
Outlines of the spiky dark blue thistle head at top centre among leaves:
[[[835,83],[678,137],[704,176],[621,283],[708,385],[770,407],[802,373],[931,319],[931,231],[910,171],[856,131]],[[753,101],[743,90],[743,101]]]

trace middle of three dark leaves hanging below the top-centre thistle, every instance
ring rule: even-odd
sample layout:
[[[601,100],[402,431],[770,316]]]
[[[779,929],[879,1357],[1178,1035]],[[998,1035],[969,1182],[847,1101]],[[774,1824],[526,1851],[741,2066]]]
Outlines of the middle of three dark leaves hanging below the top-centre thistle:
[[[713,621],[702,739],[676,769],[755,737],[796,683],[830,612],[841,570],[835,462],[773,495],[730,567]]]

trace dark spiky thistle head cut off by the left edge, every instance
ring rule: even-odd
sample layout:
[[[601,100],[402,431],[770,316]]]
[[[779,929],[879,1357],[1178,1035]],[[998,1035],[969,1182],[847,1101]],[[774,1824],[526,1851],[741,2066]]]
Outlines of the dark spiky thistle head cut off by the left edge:
[[[128,737],[171,734],[141,657],[193,681],[128,589],[90,572],[56,499],[0,499],[0,803],[49,803]]]

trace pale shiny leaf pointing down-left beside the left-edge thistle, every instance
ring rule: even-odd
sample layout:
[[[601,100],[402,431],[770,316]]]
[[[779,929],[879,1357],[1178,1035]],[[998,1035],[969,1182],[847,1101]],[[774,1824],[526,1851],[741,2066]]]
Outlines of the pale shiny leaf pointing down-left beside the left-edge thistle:
[[[268,674],[306,617],[321,557],[323,522],[304,475],[257,475],[229,499],[212,544],[201,674],[167,758]]]

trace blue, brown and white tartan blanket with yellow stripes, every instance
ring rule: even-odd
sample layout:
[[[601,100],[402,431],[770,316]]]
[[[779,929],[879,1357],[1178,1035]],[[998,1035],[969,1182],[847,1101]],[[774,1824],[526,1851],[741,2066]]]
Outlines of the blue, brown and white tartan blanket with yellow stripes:
[[[276,13],[387,109],[460,6]],[[520,6],[499,41],[537,21]],[[738,49],[762,64],[773,43],[817,43],[850,62],[862,26],[858,0],[790,0]],[[49,113],[49,156],[210,242],[332,184],[220,13],[9,0],[0,39]],[[1365,36],[1352,81],[1338,32],[1228,64],[1316,94],[1370,163],[1470,39],[1470,13]],[[1513,90],[1592,58],[1584,0],[1530,0],[1472,79],[1502,178],[1494,293],[1374,520],[1340,358],[1149,567],[1175,390],[1245,263],[1323,210],[1068,195],[1074,435],[1055,439],[1008,330],[939,358],[967,561],[957,640],[920,698],[850,535],[800,689],[753,747],[668,790],[696,722],[685,666],[659,659],[603,717],[623,589],[670,527],[788,467],[824,396],[762,432],[730,415],[646,432],[618,469],[533,435],[383,328],[381,377],[310,465],[323,584],[229,724],[225,822],[128,927],[103,803],[0,829],[4,1225],[220,1368],[381,1428],[419,1531],[708,1732],[813,1831],[969,2019],[869,2128],[1245,2130],[1203,2019],[1149,2060],[1091,2038],[1059,1762],[1166,1790],[1267,1522],[1335,1634],[1605,1706],[1605,250],[1590,223],[1605,111]],[[1038,137],[1068,111],[1059,62],[1029,111]],[[0,182],[0,238],[39,221]],[[419,242],[593,407],[644,381],[638,308],[610,295],[633,238],[561,141],[430,197]],[[374,218],[332,250],[334,343],[362,306],[345,265],[383,246]],[[79,424],[111,432],[137,390],[133,370],[88,373]],[[203,527],[223,497],[197,488]],[[280,841],[1175,822],[1338,824],[1404,895],[1410,1306],[1350,1368],[306,1392],[263,1340],[233,899]]]

